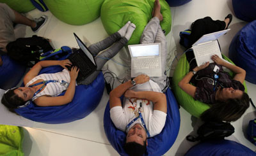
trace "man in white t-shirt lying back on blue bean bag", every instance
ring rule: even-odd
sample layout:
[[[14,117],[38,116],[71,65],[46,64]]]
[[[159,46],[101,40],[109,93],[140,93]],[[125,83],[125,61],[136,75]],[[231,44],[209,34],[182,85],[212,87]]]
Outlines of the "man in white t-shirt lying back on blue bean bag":
[[[159,0],[155,1],[153,17],[141,35],[141,43],[161,43],[161,61],[165,69],[166,39],[160,26],[163,16]],[[163,71],[164,71],[163,69]],[[159,134],[166,121],[166,75],[149,78],[141,74],[116,87],[109,94],[110,117],[115,127],[127,133],[125,152],[143,155],[147,138]],[[120,97],[124,94],[124,101]]]

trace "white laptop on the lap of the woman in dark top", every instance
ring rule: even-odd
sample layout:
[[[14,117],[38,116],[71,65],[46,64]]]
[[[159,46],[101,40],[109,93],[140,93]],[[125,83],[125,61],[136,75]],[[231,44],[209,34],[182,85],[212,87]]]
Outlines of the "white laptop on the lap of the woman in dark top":
[[[230,31],[230,29],[205,34],[192,45],[197,66],[200,66],[208,61],[212,63],[212,55],[218,55],[222,59],[218,38],[220,38],[220,36],[223,34],[226,34],[228,31]]]

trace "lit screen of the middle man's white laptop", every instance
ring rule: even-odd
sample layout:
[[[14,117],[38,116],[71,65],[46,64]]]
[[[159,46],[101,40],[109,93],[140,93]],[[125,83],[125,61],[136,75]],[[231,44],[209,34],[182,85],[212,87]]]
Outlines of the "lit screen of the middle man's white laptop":
[[[157,56],[159,45],[135,45],[130,46],[132,57]]]

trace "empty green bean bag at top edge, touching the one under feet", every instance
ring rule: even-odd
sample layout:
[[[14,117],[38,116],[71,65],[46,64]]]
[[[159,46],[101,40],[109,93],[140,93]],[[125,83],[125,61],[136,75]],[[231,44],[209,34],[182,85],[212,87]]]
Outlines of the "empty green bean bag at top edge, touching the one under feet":
[[[59,20],[72,25],[84,25],[100,16],[104,0],[44,0],[51,13]]]

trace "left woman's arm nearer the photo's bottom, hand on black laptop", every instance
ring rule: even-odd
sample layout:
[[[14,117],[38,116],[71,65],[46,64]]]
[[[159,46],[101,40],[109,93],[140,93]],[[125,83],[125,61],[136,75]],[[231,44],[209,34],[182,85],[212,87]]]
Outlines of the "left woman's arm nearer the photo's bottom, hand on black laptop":
[[[48,97],[42,96],[35,99],[35,103],[38,106],[60,106],[63,104],[70,103],[74,97],[76,90],[76,78],[79,73],[79,69],[75,66],[70,71],[70,83],[68,89],[63,96]]]

